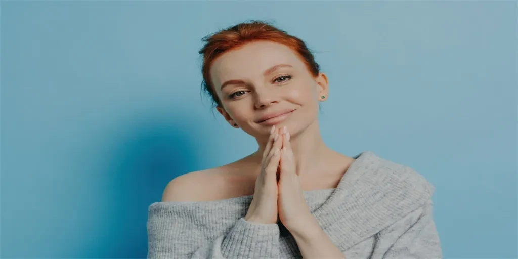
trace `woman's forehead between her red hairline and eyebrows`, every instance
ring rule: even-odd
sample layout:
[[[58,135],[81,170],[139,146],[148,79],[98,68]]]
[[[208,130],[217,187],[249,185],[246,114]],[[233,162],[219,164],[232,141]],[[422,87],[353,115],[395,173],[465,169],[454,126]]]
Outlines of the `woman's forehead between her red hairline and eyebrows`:
[[[291,48],[276,42],[256,41],[223,53],[212,63],[210,74],[217,87],[226,80],[262,77],[264,70],[278,64],[305,68]]]

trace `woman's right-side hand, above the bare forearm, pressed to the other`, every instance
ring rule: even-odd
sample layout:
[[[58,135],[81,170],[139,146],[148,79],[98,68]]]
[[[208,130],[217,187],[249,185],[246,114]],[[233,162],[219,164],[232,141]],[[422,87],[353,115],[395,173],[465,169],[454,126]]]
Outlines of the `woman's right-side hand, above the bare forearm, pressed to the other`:
[[[306,224],[314,219],[304,198],[299,174],[295,168],[293,150],[290,145],[290,133],[284,126],[279,138],[282,138],[280,154],[280,176],[278,182],[279,219],[290,231],[302,231]]]

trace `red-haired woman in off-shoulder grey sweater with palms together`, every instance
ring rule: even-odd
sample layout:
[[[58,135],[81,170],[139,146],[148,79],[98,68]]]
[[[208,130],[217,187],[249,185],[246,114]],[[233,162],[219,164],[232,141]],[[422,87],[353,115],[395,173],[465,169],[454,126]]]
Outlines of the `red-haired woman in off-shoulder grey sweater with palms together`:
[[[167,184],[149,208],[148,257],[442,257],[426,179],[325,145],[328,79],[303,41],[257,21],[204,40],[205,90],[259,147]]]

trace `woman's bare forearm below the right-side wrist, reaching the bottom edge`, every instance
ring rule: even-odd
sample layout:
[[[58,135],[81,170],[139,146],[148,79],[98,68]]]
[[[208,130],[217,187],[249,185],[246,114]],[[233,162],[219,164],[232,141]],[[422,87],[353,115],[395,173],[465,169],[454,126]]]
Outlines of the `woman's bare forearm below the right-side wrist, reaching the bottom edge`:
[[[291,232],[303,258],[345,258],[316,221],[304,230]]]

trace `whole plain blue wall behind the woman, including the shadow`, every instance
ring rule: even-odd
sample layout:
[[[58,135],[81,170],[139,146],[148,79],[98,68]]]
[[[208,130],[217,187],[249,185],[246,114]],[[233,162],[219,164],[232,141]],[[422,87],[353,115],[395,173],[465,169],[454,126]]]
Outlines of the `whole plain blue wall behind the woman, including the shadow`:
[[[201,38],[305,40],[324,140],[434,186],[444,256],[517,257],[516,3],[1,3],[2,257],[145,257],[169,180],[254,151],[200,96]]]

